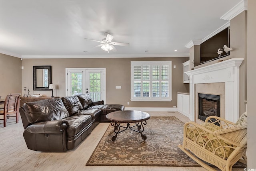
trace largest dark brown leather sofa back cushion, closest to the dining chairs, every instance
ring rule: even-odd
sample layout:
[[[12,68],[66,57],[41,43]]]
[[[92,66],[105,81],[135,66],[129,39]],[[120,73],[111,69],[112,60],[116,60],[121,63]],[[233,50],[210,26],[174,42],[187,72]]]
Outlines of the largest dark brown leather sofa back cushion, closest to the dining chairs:
[[[60,98],[28,102],[24,104],[24,111],[29,123],[60,120],[69,116]]]

